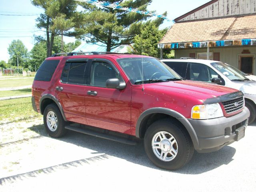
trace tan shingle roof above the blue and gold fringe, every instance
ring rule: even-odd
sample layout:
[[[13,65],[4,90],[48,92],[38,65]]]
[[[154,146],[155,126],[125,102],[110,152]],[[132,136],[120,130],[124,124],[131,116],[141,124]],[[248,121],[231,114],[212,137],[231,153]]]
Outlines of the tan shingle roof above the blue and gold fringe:
[[[256,38],[256,15],[174,23],[163,43]]]

